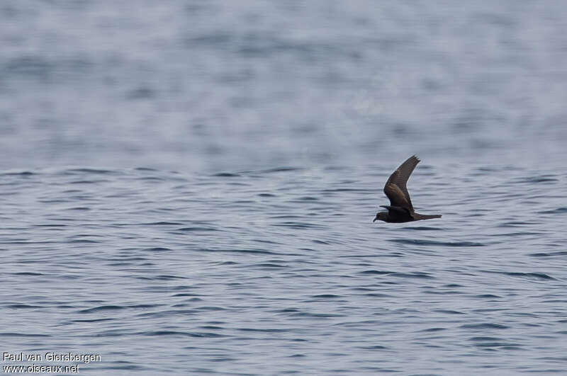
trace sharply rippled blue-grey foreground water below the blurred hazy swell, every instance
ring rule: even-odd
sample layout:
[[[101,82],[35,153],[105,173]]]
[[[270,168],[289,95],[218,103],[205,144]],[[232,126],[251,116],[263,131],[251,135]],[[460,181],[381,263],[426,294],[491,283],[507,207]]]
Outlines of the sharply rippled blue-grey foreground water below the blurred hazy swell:
[[[1,173],[3,351],[91,374],[561,373],[567,173],[418,165]]]

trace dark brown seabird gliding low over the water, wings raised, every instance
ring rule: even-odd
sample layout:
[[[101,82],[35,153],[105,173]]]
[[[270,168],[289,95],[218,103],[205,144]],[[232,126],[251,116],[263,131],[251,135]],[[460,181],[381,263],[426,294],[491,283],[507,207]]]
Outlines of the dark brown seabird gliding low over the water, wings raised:
[[[388,211],[378,212],[374,221],[401,223],[441,218],[441,215],[419,214],[413,210],[410,193],[408,193],[405,184],[408,183],[408,179],[418,163],[420,163],[420,160],[417,159],[417,156],[412,155],[391,174],[386,181],[386,186],[384,186],[384,193],[390,199],[390,205],[380,205]]]

